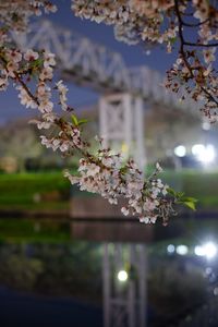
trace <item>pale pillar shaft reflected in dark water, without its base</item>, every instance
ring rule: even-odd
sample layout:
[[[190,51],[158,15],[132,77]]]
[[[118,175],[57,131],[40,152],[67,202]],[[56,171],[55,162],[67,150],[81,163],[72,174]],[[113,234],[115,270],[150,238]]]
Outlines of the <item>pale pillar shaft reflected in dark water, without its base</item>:
[[[145,244],[105,243],[104,327],[147,326],[146,268]],[[126,271],[126,280],[119,279],[121,270]]]

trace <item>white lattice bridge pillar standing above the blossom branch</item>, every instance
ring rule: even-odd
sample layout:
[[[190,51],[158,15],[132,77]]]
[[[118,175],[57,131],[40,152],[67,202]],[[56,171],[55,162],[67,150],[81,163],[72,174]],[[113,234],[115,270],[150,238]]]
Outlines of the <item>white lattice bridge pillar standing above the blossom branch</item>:
[[[133,157],[144,170],[143,99],[128,93],[102,96],[99,100],[99,123],[104,146]]]

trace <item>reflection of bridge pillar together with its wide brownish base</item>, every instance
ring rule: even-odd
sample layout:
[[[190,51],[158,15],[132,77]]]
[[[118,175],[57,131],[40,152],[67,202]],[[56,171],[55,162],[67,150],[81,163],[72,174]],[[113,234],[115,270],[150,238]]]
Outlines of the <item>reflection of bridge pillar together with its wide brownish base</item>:
[[[147,326],[147,244],[180,235],[182,225],[142,225],[136,218],[73,218],[73,239],[104,243],[104,327]],[[125,278],[119,278],[119,271]]]

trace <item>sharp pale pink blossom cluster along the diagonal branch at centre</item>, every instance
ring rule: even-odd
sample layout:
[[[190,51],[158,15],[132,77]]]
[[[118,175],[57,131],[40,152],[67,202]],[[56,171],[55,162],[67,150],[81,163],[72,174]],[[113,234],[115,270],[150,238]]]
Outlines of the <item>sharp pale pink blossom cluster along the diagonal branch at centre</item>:
[[[14,68],[10,70],[8,78],[19,84],[16,89],[22,105],[37,108],[40,113],[40,120],[33,120],[32,123],[37,124],[38,129],[55,128],[52,137],[40,136],[41,144],[52,150],[60,150],[63,155],[73,155],[77,152],[83,156],[78,165],[78,175],[65,173],[71,183],[78,184],[82,191],[100,194],[110,204],[118,204],[119,198],[124,197],[126,206],[122,208],[122,213],[137,215],[142,222],[155,222],[157,217],[161,217],[164,223],[167,223],[169,215],[174,214],[172,204],[175,197],[170,197],[168,185],[157,179],[157,173],[161,170],[160,166],[157,165],[154,174],[144,180],[142,171],[133,160],[130,159],[124,164],[124,158],[104,148],[100,141],[98,141],[97,154],[92,153],[88,143],[83,141],[80,120],[74,114],[71,116],[71,109],[66,105],[68,88],[62,81],[51,87],[56,64],[53,55],[33,50],[22,53],[17,50],[13,56],[11,52],[5,52],[4,57],[7,58],[5,73],[9,71],[9,63]],[[23,76],[31,80],[36,66],[38,83],[33,90],[24,84]],[[72,121],[68,117],[60,118],[53,112],[53,93],[58,93],[59,105],[73,118]]]

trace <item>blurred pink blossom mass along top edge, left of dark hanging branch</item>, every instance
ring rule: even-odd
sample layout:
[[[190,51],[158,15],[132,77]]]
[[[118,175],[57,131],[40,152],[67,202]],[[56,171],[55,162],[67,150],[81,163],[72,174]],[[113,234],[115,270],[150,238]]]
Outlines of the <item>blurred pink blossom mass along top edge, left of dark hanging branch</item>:
[[[141,39],[152,44],[170,41],[177,36],[178,26],[173,20],[168,22],[164,14],[171,13],[173,0],[153,1],[72,1],[72,10],[76,15],[97,23],[114,25],[116,35],[130,44]]]

